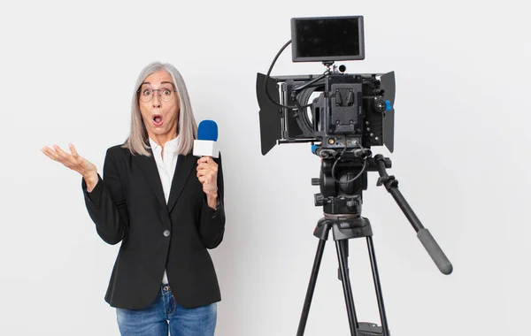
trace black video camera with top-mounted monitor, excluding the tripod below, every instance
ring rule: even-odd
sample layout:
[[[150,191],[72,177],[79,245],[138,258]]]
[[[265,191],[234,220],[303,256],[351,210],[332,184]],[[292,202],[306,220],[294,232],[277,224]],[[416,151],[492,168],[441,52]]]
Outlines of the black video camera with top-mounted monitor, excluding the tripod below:
[[[392,152],[395,74],[345,73],[334,65],[365,58],[363,17],[296,18],[291,28],[292,60],[322,62],[327,70],[270,76],[273,62],[269,73],[258,73],[262,154],[297,142],[332,151],[385,145]]]

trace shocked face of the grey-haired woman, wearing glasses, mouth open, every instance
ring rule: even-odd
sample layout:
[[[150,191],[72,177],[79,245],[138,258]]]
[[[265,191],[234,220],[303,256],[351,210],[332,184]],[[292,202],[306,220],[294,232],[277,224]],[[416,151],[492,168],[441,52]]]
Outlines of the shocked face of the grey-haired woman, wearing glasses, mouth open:
[[[168,140],[177,135],[179,97],[172,76],[163,70],[151,73],[138,93],[142,120],[151,138],[166,135]]]

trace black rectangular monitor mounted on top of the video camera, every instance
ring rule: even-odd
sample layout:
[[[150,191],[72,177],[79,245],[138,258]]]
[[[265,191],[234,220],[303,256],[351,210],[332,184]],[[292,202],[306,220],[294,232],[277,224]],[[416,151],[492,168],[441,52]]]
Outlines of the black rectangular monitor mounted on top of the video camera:
[[[365,59],[363,17],[291,19],[293,62]]]

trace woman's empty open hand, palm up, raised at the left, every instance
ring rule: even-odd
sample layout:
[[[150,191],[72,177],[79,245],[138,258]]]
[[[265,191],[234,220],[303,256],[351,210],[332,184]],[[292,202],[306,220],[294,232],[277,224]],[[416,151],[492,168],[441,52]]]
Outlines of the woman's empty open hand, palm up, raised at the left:
[[[86,158],[81,157],[73,147],[72,143],[70,143],[68,147],[72,154],[66,153],[63,149],[60,149],[58,145],[53,145],[53,149],[44,146],[41,151],[52,160],[64,164],[65,167],[68,167],[75,172],[79,172],[87,183],[87,191],[91,192],[92,189],[96,187],[98,181],[96,165],[90,163]]]

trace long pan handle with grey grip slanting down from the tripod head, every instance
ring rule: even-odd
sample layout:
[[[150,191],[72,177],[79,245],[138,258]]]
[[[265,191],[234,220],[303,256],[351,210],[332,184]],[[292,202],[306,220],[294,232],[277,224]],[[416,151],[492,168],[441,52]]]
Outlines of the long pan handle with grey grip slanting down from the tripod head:
[[[439,247],[439,244],[437,244],[427,228],[420,223],[419,218],[417,218],[417,215],[415,215],[408,202],[405,201],[404,196],[398,190],[398,180],[395,179],[395,176],[389,176],[386,172],[386,160],[389,159],[383,157],[381,154],[374,156],[374,162],[376,162],[378,172],[380,173],[380,178],[378,178],[376,185],[383,185],[389,191],[389,194],[393,196],[400,209],[404,212],[405,217],[410,221],[415,232],[417,232],[419,241],[426,248],[427,253],[431,256],[439,271],[443,272],[443,274],[450,274],[453,270],[450,260],[444,255],[443,249]]]

